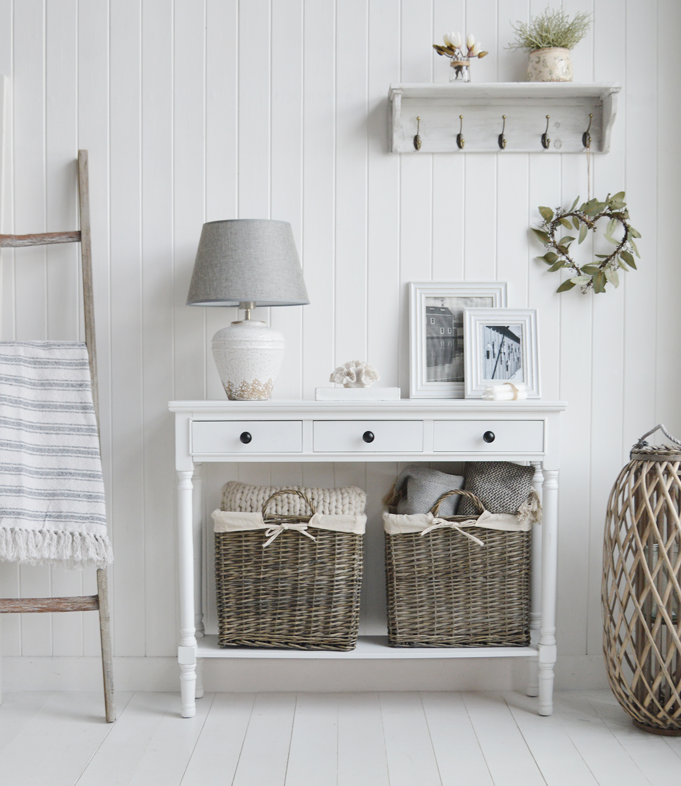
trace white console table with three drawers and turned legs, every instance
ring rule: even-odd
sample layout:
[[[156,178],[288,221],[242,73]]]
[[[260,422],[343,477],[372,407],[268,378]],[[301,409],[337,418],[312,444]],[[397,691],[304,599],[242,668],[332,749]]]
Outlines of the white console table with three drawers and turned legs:
[[[559,417],[565,402],[402,399],[394,402],[176,401],[181,714],[196,713],[202,658],[492,658],[530,660],[529,696],[552,712],[558,534]],[[493,440],[483,439],[492,432]],[[487,435],[489,439],[489,434]],[[203,631],[200,483],[205,461],[529,461],[543,498],[533,531],[529,647],[390,648],[387,637],[360,637],[353,652],[220,648]],[[192,478],[194,480],[192,480]],[[196,487],[196,488],[195,488]],[[371,490],[368,490],[371,493]]]

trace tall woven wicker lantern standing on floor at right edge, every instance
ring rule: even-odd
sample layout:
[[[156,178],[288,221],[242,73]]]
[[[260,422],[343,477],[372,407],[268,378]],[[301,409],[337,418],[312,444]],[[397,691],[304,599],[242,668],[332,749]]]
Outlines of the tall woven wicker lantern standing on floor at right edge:
[[[657,428],[678,447],[649,446]],[[617,478],[603,547],[610,687],[639,729],[681,736],[681,442],[643,435]]]

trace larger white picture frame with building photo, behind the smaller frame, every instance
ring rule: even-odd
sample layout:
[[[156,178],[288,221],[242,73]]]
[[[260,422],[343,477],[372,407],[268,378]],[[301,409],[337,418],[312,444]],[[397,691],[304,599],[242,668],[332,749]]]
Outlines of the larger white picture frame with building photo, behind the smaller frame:
[[[463,311],[505,306],[503,281],[410,281],[409,398],[463,399]]]

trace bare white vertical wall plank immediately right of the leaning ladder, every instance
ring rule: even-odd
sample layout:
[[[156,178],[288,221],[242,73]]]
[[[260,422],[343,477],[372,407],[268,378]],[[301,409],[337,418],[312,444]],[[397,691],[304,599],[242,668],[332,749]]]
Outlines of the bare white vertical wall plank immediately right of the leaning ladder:
[[[111,8],[112,494],[119,615],[115,654],[145,654],[145,520],[142,259],[141,3]],[[118,567],[118,566],[117,566]]]

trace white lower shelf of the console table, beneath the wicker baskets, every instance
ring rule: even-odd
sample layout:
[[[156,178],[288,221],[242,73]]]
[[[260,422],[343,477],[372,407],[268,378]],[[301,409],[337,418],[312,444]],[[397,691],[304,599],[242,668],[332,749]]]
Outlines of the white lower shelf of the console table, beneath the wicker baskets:
[[[270,649],[220,647],[216,635],[206,635],[196,643],[196,658],[284,658],[287,660],[405,660],[427,658],[536,658],[534,647],[390,647],[387,636],[360,636],[350,652],[328,649]]]

